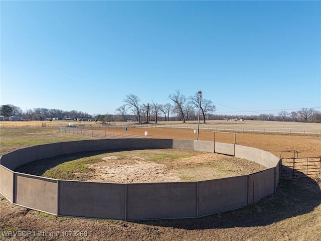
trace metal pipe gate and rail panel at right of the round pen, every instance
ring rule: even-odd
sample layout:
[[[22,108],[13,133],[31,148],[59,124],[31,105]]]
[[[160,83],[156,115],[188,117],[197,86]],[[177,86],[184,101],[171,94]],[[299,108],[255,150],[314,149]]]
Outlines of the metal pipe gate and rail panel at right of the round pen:
[[[292,152],[293,157],[283,158],[284,152]],[[281,178],[321,177],[321,156],[298,157],[297,151],[282,151]]]

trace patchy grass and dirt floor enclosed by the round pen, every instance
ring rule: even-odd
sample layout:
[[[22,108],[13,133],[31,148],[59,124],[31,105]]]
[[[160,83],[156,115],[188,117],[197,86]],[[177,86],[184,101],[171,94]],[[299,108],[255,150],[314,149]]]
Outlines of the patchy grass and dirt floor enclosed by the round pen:
[[[115,183],[202,181],[266,169],[257,163],[193,150],[123,150],[66,155],[18,168],[43,177]]]

